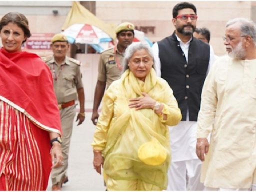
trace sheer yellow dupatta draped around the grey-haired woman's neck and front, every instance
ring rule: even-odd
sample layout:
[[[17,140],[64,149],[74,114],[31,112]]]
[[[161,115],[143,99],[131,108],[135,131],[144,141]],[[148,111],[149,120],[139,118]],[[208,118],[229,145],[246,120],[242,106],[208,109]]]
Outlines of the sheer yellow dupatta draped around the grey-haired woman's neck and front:
[[[160,122],[152,109],[135,110],[129,108],[130,98],[142,96],[146,92],[160,102],[167,102],[165,88],[158,83],[154,69],[145,81],[137,79],[127,69],[119,79],[114,107],[120,115],[111,123],[107,132],[107,142],[102,154],[104,173],[114,179],[142,179],[149,183],[165,187],[166,170],[170,159],[169,134],[167,127]],[[152,138],[157,139],[166,149],[166,160],[156,166],[141,162],[137,156],[139,146]]]

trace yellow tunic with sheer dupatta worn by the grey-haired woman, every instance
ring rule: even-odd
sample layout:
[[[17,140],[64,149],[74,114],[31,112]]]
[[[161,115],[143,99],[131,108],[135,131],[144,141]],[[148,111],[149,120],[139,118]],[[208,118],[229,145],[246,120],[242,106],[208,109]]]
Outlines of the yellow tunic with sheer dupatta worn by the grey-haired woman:
[[[166,120],[152,109],[128,107],[128,100],[142,96],[141,92],[163,103],[162,112],[167,115]],[[181,113],[171,88],[164,79],[156,77],[154,69],[150,70],[144,82],[127,69],[106,90],[93,137],[93,148],[102,150],[104,174],[115,180],[141,179],[166,188],[170,161],[166,125],[175,125],[180,119]],[[157,139],[167,153],[166,160],[160,165],[147,165],[137,156],[139,146],[152,139]]]

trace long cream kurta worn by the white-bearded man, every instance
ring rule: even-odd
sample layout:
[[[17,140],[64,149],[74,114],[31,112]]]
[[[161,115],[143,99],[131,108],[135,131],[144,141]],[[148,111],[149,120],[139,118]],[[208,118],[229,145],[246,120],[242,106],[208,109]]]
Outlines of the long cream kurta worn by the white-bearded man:
[[[197,122],[197,138],[211,132],[204,185],[249,188],[255,183],[256,59],[223,56],[215,62],[203,85]]]

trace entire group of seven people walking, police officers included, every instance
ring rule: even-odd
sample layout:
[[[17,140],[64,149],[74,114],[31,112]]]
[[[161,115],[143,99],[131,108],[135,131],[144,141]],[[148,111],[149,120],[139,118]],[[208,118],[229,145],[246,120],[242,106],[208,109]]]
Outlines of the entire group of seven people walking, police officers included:
[[[217,57],[196,12],[177,3],[152,47],[120,23],[100,54],[91,145],[106,190],[256,190],[256,25],[230,19]],[[81,63],[62,33],[52,56],[22,51],[30,35],[23,14],[1,18],[0,190],[45,190],[50,172],[61,190],[77,99],[85,118]]]

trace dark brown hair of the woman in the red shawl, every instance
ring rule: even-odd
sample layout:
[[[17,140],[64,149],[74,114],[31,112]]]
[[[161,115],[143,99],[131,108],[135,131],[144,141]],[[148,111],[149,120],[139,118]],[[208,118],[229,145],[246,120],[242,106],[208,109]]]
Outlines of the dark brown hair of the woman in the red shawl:
[[[7,25],[9,22],[12,22],[12,23],[18,25],[20,28],[22,28],[25,37],[28,38],[31,36],[30,30],[28,27],[28,20],[25,17],[25,15],[23,15],[22,13],[19,13],[19,12],[6,13],[0,20],[0,31],[1,31],[2,27]],[[25,41],[26,41],[26,39],[23,40],[23,42],[25,42]]]

